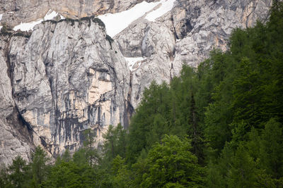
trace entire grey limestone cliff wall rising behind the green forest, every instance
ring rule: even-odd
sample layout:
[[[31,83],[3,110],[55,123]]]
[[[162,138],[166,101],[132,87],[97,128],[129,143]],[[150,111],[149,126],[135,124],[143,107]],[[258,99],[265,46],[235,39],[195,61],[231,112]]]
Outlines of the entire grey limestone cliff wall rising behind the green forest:
[[[173,2],[170,11],[147,18],[161,7],[154,1],[152,10],[112,39],[93,15],[122,12],[141,0],[1,0],[0,21],[8,26],[43,18],[50,9],[68,19],[45,21],[33,32],[1,30],[0,162],[28,158],[37,145],[52,156],[75,151],[89,128],[98,142],[108,125],[127,128],[152,80],[170,82],[184,63],[195,67],[212,49],[225,51],[234,28],[265,21],[272,5],[271,0],[167,1]],[[128,58],[136,59],[132,67]]]

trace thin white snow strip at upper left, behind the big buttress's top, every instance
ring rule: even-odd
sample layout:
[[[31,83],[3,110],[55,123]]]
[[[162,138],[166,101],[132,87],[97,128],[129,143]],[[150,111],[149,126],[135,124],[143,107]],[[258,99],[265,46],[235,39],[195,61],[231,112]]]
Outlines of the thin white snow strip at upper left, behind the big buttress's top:
[[[45,20],[52,20],[57,15],[58,15],[57,12],[50,10],[50,11],[47,12],[47,14],[45,15],[44,18],[37,20],[37,21],[30,22],[30,23],[21,23],[20,25],[16,25],[15,27],[13,27],[13,30],[14,31],[17,31],[17,30],[21,30],[21,31],[33,30],[33,27],[35,27],[35,25],[40,24]],[[60,18],[64,19],[64,17],[63,18],[62,17],[63,16],[60,15]]]

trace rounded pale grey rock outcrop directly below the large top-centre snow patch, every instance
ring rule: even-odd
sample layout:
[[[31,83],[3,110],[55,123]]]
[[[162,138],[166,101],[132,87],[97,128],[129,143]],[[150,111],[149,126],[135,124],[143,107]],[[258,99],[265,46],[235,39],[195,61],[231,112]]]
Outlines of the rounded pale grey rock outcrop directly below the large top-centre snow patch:
[[[124,56],[145,58],[139,68],[132,72],[131,104],[137,108],[144,87],[149,87],[153,80],[158,84],[170,81],[175,37],[164,23],[149,23],[142,19],[117,35],[115,40]]]

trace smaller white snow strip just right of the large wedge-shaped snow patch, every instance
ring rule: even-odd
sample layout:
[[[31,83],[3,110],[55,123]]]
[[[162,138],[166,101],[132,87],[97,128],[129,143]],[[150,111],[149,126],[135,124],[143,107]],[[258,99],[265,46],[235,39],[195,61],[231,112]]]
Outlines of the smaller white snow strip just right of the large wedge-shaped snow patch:
[[[174,6],[174,2],[175,2],[175,0],[162,0],[162,1],[160,1],[161,6],[159,8],[157,8],[156,10],[152,11],[151,13],[149,13],[148,15],[146,15],[146,19],[151,21],[151,22],[154,22],[154,20],[156,20],[156,18],[159,18],[162,15],[164,15],[165,13],[168,13],[169,11],[171,11],[173,6]]]

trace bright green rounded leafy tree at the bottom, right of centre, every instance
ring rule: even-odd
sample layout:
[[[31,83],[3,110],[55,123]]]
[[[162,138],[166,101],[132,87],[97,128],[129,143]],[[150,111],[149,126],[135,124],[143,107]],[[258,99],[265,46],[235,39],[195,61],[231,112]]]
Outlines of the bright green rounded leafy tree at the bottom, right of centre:
[[[161,144],[154,144],[146,163],[149,170],[144,173],[142,187],[200,187],[203,169],[190,149],[187,139],[166,135]]]

